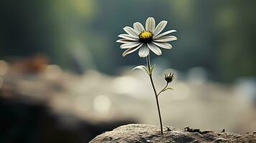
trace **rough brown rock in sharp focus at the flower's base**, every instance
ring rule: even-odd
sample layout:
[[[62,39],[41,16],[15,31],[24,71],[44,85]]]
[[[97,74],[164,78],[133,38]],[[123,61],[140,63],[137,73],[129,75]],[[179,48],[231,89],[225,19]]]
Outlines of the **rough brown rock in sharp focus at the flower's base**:
[[[239,138],[237,138],[239,136]],[[159,127],[146,124],[128,124],[95,137],[90,143],[117,142],[256,142],[256,134],[200,131],[186,127],[184,131],[166,127],[163,134]]]

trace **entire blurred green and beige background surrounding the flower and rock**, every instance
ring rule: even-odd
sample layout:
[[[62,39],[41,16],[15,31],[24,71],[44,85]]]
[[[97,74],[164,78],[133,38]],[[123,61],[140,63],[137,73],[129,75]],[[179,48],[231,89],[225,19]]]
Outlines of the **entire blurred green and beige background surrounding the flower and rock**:
[[[146,59],[123,58],[124,26],[169,21],[178,41],[156,64],[176,73],[163,124],[256,130],[256,1],[2,0],[0,142],[89,142],[123,124],[158,126]]]

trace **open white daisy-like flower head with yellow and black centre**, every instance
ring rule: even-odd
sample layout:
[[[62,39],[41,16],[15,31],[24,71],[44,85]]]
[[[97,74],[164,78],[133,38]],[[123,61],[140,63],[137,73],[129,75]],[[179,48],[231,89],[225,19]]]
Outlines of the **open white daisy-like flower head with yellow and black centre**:
[[[120,38],[116,42],[122,43],[120,46],[121,49],[126,49],[123,52],[123,56],[131,54],[133,51],[138,51],[138,56],[146,57],[149,54],[149,49],[157,55],[161,55],[162,51],[158,47],[163,49],[171,49],[171,44],[167,43],[168,41],[176,40],[176,36],[166,36],[171,34],[176,30],[169,30],[161,33],[166,27],[167,21],[161,21],[156,26],[156,21],[153,17],[148,17],[146,20],[146,29],[139,22],[133,24],[133,28],[130,26],[125,26],[123,30],[127,34],[118,35]],[[161,34],[160,34],[161,33]]]

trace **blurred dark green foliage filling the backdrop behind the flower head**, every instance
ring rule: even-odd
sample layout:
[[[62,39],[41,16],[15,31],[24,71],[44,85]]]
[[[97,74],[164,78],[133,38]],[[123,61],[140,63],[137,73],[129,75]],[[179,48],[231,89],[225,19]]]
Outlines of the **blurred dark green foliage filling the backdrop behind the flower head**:
[[[43,53],[52,63],[82,72],[116,74],[120,66],[145,63],[121,56],[123,26],[148,16],[177,29],[174,48],[163,52],[167,66],[186,71],[202,66],[210,78],[231,81],[254,76],[255,1],[4,0],[1,1],[0,56]],[[156,56],[153,56],[153,58]]]

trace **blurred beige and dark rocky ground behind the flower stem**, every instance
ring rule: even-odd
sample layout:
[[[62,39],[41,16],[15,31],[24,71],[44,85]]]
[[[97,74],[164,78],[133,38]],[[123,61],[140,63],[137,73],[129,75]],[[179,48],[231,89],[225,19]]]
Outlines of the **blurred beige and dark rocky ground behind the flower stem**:
[[[80,75],[46,64],[37,72],[17,72],[16,65],[27,65],[19,61],[1,61],[6,67],[0,86],[2,142],[82,142],[121,124],[158,125],[143,71],[126,67],[120,76],[93,70]],[[247,89],[247,80],[234,85],[211,82],[199,67],[188,74],[175,72],[179,78],[173,82],[174,91],[160,97],[164,124],[238,133],[256,130],[255,91]],[[153,78],[164,86],[159,75],[156,66]]]

